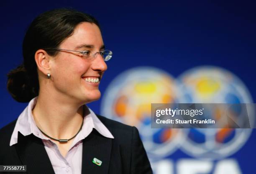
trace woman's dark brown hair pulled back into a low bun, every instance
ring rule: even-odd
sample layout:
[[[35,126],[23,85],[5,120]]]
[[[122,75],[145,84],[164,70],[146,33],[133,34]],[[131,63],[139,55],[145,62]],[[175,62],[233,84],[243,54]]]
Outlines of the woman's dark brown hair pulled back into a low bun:
[[[52,49],[58,48],[65,38],[71,36],[81,22],[95,23],[100,27],[91,15],[71,9],[50,10],[33,20],[23,40],[23,64],[7,74],[7,89],[16,101],[29,102],[38,96],[36,51],[45,49],[49,55],[55,56],[57,51]]]

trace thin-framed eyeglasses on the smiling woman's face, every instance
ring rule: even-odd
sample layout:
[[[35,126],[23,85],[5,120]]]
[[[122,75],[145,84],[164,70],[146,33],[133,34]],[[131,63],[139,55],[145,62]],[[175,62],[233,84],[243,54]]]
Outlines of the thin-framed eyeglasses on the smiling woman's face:
[[[74,50],[68,50],[68,49],[48,49],[48,50],[78,52],[78,53],[82,54],[82,57],[84,59],[95,58],[97,56],[97,54],[100,54],[103,57],[104,61],[108,61],[109,59],[112,58],[112,55],[113,55],[112,51],[110,51],[110,50],[99,51],[96,53],[92,53],[92,51],[90,51],[90,50],[84,50],[84,51],[74,51]]]

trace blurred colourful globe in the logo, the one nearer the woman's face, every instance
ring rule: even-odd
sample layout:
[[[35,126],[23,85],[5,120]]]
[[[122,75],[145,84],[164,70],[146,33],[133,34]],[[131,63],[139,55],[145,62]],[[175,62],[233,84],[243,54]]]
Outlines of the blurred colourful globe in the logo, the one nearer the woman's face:
[[[177,94],[176,83],[166,72],[133,68],[110,83],[102,98],[101,114],[136,126],[149,158],[162,158],[178,148],[182,130],[151,128],[151,103],[178,102]]]

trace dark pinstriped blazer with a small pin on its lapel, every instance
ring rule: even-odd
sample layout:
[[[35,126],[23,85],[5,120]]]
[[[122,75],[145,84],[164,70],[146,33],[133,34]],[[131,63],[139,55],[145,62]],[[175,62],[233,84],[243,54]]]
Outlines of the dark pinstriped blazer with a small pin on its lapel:
[[[100,115],[97,117],[114,139],[92,130],[83,140],[82,174],[151,174],[152,169],[137,128]],[[0,165],[27,165],[28,174],[54,174],[40,138],[33,134],[23,136],[19,132],[18,143],[9,145],[15,123],[16,120],[0,129]],[[94,157],[102,161],[101,166],[92,163]]]

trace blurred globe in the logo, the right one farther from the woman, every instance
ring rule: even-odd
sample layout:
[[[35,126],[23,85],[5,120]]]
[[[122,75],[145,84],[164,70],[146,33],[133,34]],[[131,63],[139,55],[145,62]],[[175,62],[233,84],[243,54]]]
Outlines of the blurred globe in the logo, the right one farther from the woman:
[[[247,88],[231,72],[218,67],[196,67],[177,79],[183,103],[252,103]],[[216,116],[222,108],[215,108]],[[233,110],[233,113],[238,111]],[[237,113],[239,114],[239,113]],[[254,110],[248,110],[254,115]],[[218,116],[218,115],[217,115]],[[186,142],[181,149],[186,154],[220,159],[238,151],[251,135],[251,129],[187,129]]]

